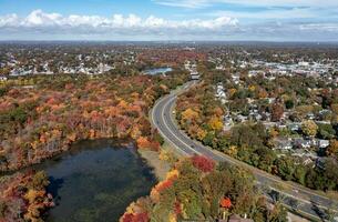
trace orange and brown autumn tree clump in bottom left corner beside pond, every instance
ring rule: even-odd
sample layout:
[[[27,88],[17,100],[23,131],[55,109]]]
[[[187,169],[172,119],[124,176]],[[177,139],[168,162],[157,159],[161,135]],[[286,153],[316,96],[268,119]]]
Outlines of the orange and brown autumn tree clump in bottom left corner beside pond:
[[[42,221],[53,198],[45,192],[49,184],[42,171],[18,172],[0,178],[0,221]]]

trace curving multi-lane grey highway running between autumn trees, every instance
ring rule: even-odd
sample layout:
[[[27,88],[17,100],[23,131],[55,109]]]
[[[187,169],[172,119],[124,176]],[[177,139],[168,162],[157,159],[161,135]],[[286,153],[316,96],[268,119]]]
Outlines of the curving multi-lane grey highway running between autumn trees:
[[[193,81],[187,82],[181,89],[174,90],[171,92],[171,94],[163,97],[155,103],[151,111],[152,124],[158,130],[165,141],[168,142],[173,149],[175,149],[176,153],[186,157],[202,154],[213,159],[216,162],[227,162],[233,165],[239,165],[249,169],[256,176],[256,183],[263,184],[263,190],[269,190],[269,192],[272,190],[277,191],[279,195],[283,196],[280,200],[287,208],[295,208],[296,205],[297,211],[301,214],[320,220],[320,214],[324,213],[324,209],[331,208],[332,200],[319,195],[301,185],[285,182],[277,176],[270,175],[226,154],[214,151],[211,148],[203,145],[198,141],[192,140],[188,135],[185,134],[185,132],[180,130],[173,114],[175,102],[177,95],[193,84]],[[276,184],[278,184],[277,188]],[[285,185],[287,185],[288,189],[278,189]],[[270,195],[266,195],[270,200]]]

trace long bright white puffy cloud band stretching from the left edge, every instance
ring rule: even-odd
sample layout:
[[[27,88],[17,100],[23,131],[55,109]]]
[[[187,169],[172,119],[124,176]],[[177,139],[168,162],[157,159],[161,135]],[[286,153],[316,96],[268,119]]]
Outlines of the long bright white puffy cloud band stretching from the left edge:
[[[124,17],[113,14],[111,18],[100,16],[62,16],[60,13],[45,13],[34,10],[25,18],[17,14],[0,17],[0,29],[11,31],[39,31],[48,33],[195,33],[195,32],[222,32],[229,27],[236,27],[238,20],[229,17],[216,19],[194,20],[165,20],[150,16],[142,19],[135,14]]]

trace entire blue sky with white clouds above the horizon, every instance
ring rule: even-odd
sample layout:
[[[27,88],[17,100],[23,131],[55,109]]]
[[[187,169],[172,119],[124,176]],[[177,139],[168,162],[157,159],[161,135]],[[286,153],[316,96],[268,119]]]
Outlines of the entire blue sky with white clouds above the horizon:
[[[0,40],[338,42],[338,0],[0,0]]]

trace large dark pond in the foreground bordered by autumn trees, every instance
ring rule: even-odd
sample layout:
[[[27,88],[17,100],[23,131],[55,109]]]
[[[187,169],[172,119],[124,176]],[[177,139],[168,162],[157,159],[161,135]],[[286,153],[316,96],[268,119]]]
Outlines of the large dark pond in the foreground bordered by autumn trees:
[[[126,206],[147,195],[156,179],[132,144],[82,141],[39,165],[50,178],[55,206],[48,222],[119,221]]]

